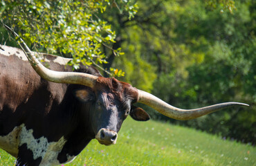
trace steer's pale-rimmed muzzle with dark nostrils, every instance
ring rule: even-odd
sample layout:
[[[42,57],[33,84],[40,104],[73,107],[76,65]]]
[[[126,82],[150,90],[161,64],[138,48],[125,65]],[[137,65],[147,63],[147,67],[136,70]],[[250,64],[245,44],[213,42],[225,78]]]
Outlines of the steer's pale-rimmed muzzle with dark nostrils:
[[[103,145],[116,144],[118,133],[109,129],[100,129],[95,138]]]

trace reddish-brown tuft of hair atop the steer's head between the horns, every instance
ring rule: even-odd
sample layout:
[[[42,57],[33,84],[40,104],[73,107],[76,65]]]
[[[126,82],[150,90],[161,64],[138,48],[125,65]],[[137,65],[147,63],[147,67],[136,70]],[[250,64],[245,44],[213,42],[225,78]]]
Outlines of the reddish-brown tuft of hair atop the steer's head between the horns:
[[[132,102],[138,102],[138,90],[126,82],[116,80],[114,77],[98,77],[95,90],[113,93],[120,102],[125,102],[128,99]]]

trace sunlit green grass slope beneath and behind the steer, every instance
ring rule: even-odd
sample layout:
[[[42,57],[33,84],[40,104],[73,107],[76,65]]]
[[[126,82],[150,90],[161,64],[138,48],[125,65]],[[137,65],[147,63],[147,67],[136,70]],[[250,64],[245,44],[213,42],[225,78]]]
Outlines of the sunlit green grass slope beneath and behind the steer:
[[[0,150],[0,165],[15,158]],[[71,165],[256,165],[256,148],[163,122],[127,118],[116,145],[92,140]]]

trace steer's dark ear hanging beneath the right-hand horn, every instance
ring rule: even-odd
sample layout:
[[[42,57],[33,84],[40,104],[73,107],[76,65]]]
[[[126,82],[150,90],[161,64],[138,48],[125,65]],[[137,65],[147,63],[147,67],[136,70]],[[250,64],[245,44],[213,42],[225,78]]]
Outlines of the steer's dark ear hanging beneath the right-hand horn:
[[[131,106],[130,116],[134,120],[147,121],[150,119],[149,114],[140,107]]]

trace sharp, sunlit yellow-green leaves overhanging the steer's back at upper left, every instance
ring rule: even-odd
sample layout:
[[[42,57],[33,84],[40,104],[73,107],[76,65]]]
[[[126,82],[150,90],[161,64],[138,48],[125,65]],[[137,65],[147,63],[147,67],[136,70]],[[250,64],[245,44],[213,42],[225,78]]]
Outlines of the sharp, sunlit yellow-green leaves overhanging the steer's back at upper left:
[[[0,8],[1,22],[16,28],[31,47],[73,57],[69,62],[73,68],[78,68],[80,63],[107,63],[102,46],[107,46],[116,56],[122,54],[120,48],[108,46],[115,43],[116,33],[98,14],[104,14],[107,8],[125,10],[130,18],[136,13],[131,1],[109,0],[8,0],[1,1]]]

